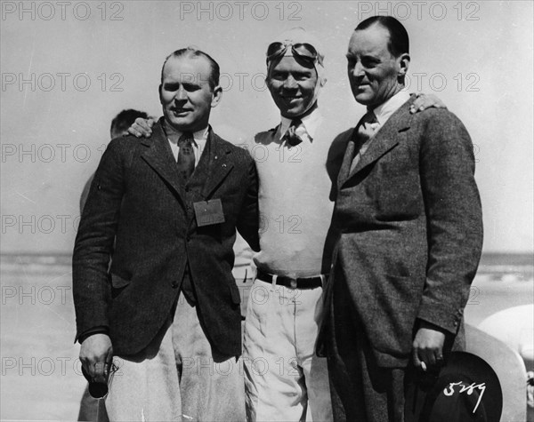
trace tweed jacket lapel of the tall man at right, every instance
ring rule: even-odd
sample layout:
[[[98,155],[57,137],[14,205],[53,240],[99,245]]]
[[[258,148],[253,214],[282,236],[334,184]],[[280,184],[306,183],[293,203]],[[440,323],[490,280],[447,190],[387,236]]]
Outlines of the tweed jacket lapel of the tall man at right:
[[[408,130],[411,123],[411,115],[409,115],[409,105],[412,102],[413,99],[410,99],[409,101],[404,103],[395,113],[393,113],[393,115],[388,119],[384,126],[376,132],[376,135],[374,139],[372,139],[368,150],[365,152],[364,155],[361,155],[360,161],[358,162],[358,164],[356,164],[356,167],[354,167],[348,177],[342,181],[342,186],[344,182],[349,179],[352,179],[356,174],[368,167],[368,165],[375,163],[376,160],[380,159],[380,157],[387,154],[393,147],[399,144],[399,133],[401,131]],[[350,142],[350,144],[352,144],[352,146],[354,145],[353,142]],[[350,146],[347,147],[347,152],[349,149]],[[345,155],[345,159],[346,158],[347,156]],[[349,163],[349,168],[350,165],[351,163]]]

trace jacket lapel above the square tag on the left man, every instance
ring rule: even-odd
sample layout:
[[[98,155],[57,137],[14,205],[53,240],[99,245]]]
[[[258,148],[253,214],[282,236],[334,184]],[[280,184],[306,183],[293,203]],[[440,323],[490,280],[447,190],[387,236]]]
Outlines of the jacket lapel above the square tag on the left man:
[[[202,196],[208,199],[233,168],[230,161],[231,149],[214,134],[211,126],[207,135],[207,154],[203,154],[191,179],[205,180]]]

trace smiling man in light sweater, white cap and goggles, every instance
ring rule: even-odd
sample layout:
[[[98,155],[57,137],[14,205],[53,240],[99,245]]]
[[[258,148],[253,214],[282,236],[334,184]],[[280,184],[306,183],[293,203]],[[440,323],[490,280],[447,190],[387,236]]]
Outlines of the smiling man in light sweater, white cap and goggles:
[[[267,51],[280,123],[247,144],[259,177],[260,246],[249,294],[243,362],[247,420],[332,420],[325,358],[314,354],[331,257],[333,184],[344,144],[318,106],[326,84],[320,41],[303,28]],[[433,98],[414,106],[433,105]],[[138,119],[131,133],[146,133]]]

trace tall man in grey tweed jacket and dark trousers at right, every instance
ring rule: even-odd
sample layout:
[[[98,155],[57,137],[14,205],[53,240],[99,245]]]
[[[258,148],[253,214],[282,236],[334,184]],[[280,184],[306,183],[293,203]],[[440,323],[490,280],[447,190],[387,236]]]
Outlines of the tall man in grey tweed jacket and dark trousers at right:
[[[319,351],[335,419],[404,420],[404,380],[461,348],[481,255],[473,144],[445,109],[409,114],[409,39],[398,20],[355,29],[347,53],[368,114],[340,135],[338,239]]]

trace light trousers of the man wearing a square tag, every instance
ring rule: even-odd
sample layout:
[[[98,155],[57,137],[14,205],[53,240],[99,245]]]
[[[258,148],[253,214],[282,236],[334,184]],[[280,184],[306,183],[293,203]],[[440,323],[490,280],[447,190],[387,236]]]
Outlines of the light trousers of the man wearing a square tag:
[[[197,308],[183,295],[174,318],[142,353],[114,362],[110,421],[245,420],[242,364],[212,353]]]

